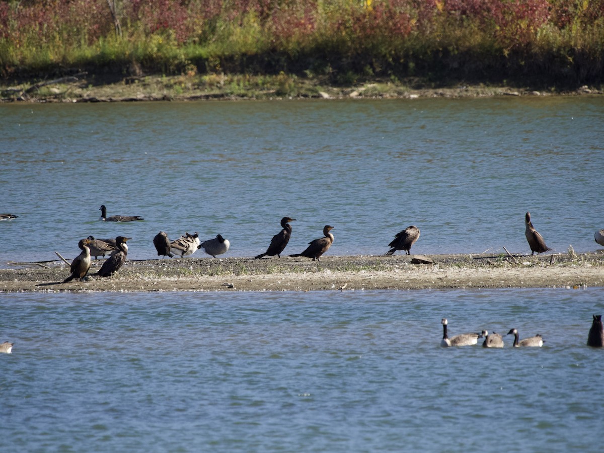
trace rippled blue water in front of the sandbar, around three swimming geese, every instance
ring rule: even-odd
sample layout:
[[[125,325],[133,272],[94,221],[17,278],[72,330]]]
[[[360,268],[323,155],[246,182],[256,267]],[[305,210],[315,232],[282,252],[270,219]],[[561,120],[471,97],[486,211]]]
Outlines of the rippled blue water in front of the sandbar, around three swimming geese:
[[[602,289],[8,294],[5,451],[600,451]],[[449,332],[541,349],[442,349]]]

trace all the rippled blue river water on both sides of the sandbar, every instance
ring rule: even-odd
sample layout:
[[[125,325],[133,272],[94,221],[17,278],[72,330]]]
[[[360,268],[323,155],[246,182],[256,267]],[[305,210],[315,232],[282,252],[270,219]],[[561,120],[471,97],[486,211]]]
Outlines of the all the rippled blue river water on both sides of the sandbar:
[[[604,100],[1,105],[0,266],[159,230],[329,255],[597,249]],[[144,222],[98,222],[109,215]],[[210,259],[200,253],[187,259]],[[604,290],[0,294],[1,451],[599,451]],[[538,350],[443,350],[541,333]]]

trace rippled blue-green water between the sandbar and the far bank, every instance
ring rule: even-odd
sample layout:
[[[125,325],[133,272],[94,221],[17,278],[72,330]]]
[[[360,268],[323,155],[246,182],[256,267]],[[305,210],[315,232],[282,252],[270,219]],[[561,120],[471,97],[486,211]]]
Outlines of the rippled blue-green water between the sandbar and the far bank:
[[[199,231],[263,252],[291,216],[290,253],[335,226],[330,254],[384,254],[417,225],[416,253],[596,248],[604,228],[604,99],[199,102],[0,106],[0,263],[79,253],[93,234]],[[108,214],[144,222],[101,223]],[[28,246],[21,240],[27,238]],[[199,254],[194,255],[194,257]]]

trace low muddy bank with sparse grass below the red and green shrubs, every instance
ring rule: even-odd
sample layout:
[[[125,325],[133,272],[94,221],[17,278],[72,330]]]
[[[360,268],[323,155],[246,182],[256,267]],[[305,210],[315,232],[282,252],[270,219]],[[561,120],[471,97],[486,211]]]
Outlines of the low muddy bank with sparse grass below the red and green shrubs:
[[[414,99],[602,95],[602,87],[544,89],[496,85],[435,86],[410,79],[365,80],[347,86],[321,78],[288,76],[136,76],[115,79],[86,72],[57,79],[13,83],[0,80],[0,103],[105,103],[136,101],[285,100],[285,99]]]

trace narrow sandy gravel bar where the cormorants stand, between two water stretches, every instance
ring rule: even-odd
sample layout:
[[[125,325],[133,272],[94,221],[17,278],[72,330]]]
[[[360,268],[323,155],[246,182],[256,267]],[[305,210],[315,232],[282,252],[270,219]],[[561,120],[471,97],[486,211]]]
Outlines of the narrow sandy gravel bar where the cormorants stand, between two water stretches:
[[[432,264],[412,264],[414,257]],[[112,277],[62,283],[65,263],[0,269],[0,292],[359,291],[405,289],[586,288],[604,286],[604,252],[549,255],[362,255],[156,259],[126,262]]]

